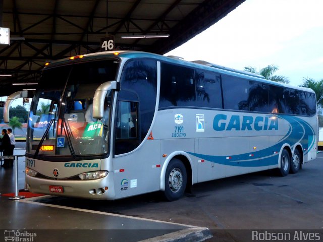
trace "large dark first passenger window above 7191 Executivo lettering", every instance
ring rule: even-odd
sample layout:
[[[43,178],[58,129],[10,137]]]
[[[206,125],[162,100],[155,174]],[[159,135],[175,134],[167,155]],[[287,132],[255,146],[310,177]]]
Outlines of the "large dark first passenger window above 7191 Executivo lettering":
[[[159,107],[195,105],[194,70],[161,63]]]

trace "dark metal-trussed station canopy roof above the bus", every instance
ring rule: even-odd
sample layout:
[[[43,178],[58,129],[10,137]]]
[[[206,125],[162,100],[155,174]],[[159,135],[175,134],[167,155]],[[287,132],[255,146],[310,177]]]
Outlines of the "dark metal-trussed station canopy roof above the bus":
[[[0,44],[0,96],[34,88],[27,84],[48,61],[101,51],[107,36],[117,50],[167,53],[244,1],[0,0],[0,28],[10,28],[10,45]]]

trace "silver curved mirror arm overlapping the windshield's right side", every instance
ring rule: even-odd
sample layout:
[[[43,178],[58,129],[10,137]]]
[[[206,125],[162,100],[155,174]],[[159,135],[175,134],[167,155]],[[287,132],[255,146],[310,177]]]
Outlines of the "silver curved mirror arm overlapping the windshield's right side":
[[[120,83],[110,81],[102,83],[94,93],[93,97],[93,117],[101,119],[104,112],[104,98],[109,90],[120,90]]]

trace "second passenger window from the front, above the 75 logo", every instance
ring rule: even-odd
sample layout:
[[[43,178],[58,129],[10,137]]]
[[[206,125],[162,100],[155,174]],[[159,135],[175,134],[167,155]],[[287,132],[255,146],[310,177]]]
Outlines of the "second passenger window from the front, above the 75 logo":
[[[198,107],[222,108],[221,77],[217,73],[195,71]]]

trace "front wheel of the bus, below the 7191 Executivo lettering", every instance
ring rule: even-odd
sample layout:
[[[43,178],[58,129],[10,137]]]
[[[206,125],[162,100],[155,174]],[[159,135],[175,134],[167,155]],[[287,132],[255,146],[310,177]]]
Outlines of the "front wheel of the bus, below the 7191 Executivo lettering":
[[[173,158],[166,169],[164,197],[168,201],[180,199],[184,195],[186,184],[185,165],[181,160]]]

